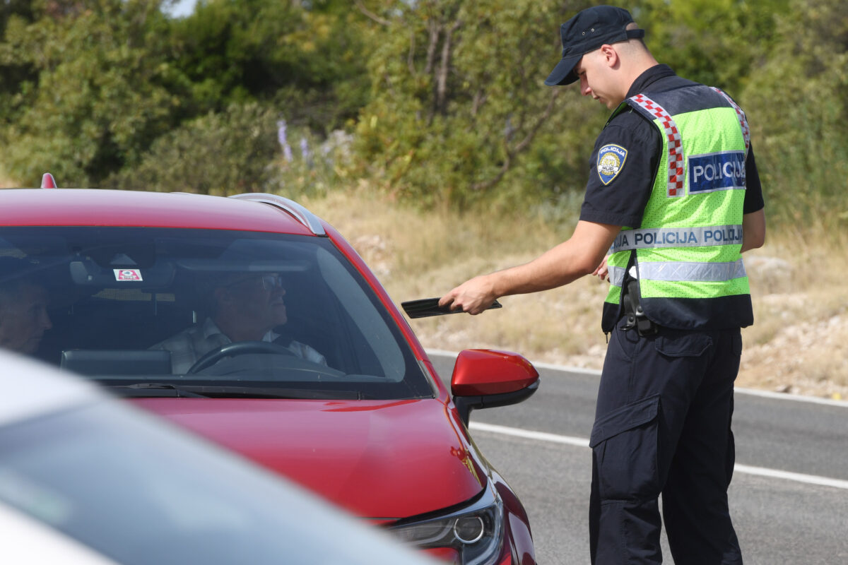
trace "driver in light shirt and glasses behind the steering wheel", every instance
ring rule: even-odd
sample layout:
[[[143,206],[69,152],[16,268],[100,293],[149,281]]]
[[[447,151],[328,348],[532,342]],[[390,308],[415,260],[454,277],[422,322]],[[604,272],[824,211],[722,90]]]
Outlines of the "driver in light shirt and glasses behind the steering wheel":
[[[184,374],[204,354],[237,341],[277,342],[274,328],[285,324],[286,304],[282,277],[274,274],[237,274],[215,282],[209,293],[209,317],[171,336],[151,349],[170,351],[171,370]],[[326,365],[326,358],[299,341],[285,345],[296,357]]]

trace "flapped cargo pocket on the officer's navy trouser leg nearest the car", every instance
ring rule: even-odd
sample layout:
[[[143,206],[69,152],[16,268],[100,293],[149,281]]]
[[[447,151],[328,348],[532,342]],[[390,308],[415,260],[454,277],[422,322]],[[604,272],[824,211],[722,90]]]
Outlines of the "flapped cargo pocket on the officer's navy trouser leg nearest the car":
[[[649,396],[606,414],[594,423],[594,450],[601,501],[658,496],[657,416],[660,396]]]

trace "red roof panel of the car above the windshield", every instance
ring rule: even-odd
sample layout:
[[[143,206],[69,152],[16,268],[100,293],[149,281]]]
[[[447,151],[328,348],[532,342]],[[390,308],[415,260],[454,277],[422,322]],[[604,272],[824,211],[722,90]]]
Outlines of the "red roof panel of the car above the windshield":
[[[198,194],[92,189],[0,191],[3,225],[130,225],[310,235],[293,215],[260,202]]]

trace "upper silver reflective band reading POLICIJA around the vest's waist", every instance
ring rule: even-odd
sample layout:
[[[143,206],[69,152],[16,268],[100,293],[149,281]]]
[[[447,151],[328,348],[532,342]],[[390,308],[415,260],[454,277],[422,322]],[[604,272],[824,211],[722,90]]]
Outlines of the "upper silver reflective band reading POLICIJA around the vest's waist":
[[[622,230],[611,251],[651,249],[655,247],[704,247],[741,245],[741,225],[709,225],[700,228],[645,228]]]

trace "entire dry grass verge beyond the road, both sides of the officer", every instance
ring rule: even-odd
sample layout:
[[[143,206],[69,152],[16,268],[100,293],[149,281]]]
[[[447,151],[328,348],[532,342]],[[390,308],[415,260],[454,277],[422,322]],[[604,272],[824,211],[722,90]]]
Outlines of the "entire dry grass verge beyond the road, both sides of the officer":
[[[366,188],[304,203],[349,238],[398,304],[527,262],[572,230],[541,219],[420,213]],[[773,231],[767,246],[746,254],[756,324],[743,330],[740,386],[848,398],[845,239],[816,228]],[[554,291],[507,296],[503,309],[480,316],[411,324],[428,347],[496,347],[537,362],[600,368],[605,293],[606,283],[584,278]]]

